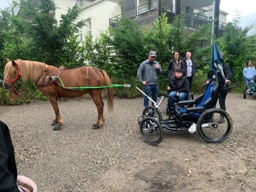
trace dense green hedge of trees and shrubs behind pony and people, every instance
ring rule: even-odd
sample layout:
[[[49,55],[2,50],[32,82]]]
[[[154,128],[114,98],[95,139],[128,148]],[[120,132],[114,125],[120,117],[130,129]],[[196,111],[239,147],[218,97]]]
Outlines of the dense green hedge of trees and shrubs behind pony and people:
[[[157,62],[164,73],[159,75],[160,91],[168,86],[168,64],[174,50],[184,58],[186,52],[192,53],[196,60],[197,73],[194,78],[193,92],[201,93],[209,71],[212,46],[201,47],[202,41],[211,41],[212,22],[185,36],[185,20],[175,16],[172,23],[163,13],[154,23],[154,27],[141,30],[137,22],[123,16],[118,28],[109,28],[98,36],[89,33],[84,41],[78,40],[77,32],[86,26],[87,20],[78,20],[82,7],[75,4],[57,21],[50,11],[57,9],[53,0],[41,0],[32,5],[32,0],[22,0],[22,11],[31,22],[16,17],[12,9],[0,10],[0,78],[3,78],[6,58],[36,60],[50,65],[77,68],[90,65],[106,70],[112,83],[136,84],[143,90],[137,77],[140,64],[148,59],[151,50],[157,53]],[[225,62],[232,69],[232,82],[243,81],[242,69],[247,60],[256,61],[256,36],[247,36],[252,26],[238,29],[239,14],[224,28],[224,36],[215,39]],[[242,82],[243,85],[243,82]],[[33,99],[47,99],[31,82],[18,82],[20,97],[16,103]],[[241,89],[242,90],[242,89]],[[239,92],[240,89],[237,89]],[[116,88],[115,96],[124,98],[143,97],[136,89]],[[14,104],[10,101],[9,91],[0,88],[0,104]]]

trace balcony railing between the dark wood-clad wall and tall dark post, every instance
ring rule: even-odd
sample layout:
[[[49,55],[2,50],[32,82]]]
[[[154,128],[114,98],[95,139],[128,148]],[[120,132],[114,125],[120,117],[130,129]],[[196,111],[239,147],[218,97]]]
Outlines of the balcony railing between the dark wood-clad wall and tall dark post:
[[[205,23],[211,22],[212,19],[200,14],[182,9],[184,12],[185,25],[188,27],[199,29]]]

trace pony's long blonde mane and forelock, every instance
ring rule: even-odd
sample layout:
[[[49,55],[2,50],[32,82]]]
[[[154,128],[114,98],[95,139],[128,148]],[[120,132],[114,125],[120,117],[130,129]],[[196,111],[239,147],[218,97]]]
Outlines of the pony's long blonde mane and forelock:
[[[31,80],[33,82],[36,82],[37,78],[42,74],[45,68],[49,67],[49,65],[37,61],[18,59],[15,60],[15,62],[20,68],[21,78],[23,80]],[[55,68],[54,66],[51,67]],[[16,74],[14,74],[14,72],[15,70],[12,62],[8,62],[4,70],[4,76],[8,73],[8,76],[15,77]]]

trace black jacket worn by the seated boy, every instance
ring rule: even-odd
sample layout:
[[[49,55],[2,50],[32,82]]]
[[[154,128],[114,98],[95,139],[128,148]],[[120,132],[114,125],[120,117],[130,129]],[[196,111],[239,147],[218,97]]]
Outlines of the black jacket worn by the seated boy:
[[[176,84],[176,80],[178,81],[178,86]],[[172,78],[169,81],[170,91],[178,91],[181,92],[188,92],[189,91],[189,81],[186,76],[182,76],[180,79]]]

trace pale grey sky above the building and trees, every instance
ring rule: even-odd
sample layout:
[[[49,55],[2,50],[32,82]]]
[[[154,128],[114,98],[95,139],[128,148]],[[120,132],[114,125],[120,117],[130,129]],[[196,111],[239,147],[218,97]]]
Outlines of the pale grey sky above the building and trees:
[[[12,0],[0,0],[0,8],[8,6],[8,2],[12,2]],[[242,17],[256,13],[256,0],[221,0],[220,9],[229,13],[227,21],[231,21],[236,9],[238,12],[242,12]]]

